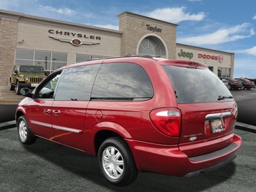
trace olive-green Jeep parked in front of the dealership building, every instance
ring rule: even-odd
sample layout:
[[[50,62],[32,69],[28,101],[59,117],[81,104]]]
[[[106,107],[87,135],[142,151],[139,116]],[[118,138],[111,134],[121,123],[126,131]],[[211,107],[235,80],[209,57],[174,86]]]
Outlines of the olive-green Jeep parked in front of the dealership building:
[[[9,78],[9,88],[20,95],[22,88],[35,88],[44,78],[44,68],[31,65],[16,65],[13,67],[12,75]]]

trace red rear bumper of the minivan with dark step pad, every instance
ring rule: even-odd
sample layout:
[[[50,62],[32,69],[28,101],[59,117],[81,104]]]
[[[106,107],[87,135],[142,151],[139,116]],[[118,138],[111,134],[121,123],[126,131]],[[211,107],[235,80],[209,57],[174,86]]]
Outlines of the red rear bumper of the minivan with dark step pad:
[[[190,158],[179,150],[177,145],[159,145],[134,140],[127,142],[140,172],[189,177],[215,170],[235,159],[242,139],[235,134],[233,142],[227,147]]]

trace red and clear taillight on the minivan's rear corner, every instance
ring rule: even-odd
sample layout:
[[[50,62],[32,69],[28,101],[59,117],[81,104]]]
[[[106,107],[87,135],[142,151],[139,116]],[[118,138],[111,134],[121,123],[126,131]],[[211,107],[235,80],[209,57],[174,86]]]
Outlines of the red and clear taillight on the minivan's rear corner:
[[[155,127],[168,136],[180,136],[181,113],[175,108],[161,108],[151,111],[150,118]]]

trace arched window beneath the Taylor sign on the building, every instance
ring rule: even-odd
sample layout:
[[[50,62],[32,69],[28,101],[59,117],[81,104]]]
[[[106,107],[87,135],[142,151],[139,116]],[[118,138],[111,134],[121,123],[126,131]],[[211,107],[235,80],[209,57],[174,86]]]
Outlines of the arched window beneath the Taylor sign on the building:
[[[156,36],[147,36],[141,41],[138,54],[151,55],[161,58],[166,58],[166,50],[163,42]]]

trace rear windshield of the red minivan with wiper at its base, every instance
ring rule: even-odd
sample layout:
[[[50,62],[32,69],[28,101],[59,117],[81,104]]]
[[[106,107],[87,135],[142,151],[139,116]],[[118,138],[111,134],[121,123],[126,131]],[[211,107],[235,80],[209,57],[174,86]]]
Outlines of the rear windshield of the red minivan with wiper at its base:
[[[179,104],[234,100],[225,84],[210,70],[163,65]]]

